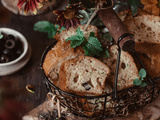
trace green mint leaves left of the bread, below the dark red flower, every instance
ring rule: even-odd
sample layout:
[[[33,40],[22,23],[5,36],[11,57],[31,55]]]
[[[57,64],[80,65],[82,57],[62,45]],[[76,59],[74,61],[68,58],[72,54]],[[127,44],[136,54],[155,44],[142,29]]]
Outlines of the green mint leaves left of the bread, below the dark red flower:
[[[62,27],[59,30],[59,25],[54,25],[48,21],[39,21],[39,22],[35,23],[35,25],[34,25],[35,31],[48,33],[48,37],[50,39],[52,39],[56,35],[57,32],[61,32],[64,29],[65,28]]]

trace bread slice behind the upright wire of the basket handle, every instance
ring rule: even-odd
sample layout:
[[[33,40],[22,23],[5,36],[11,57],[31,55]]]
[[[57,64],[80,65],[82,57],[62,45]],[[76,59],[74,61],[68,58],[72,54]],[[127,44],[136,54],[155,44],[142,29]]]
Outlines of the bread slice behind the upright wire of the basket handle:
[[[109,58],[102,58],[101,60],[103,63],[109,66],[111,70],[109,81],[112,82],[112,86],[114,87],[118,46],[111,46],[109,53]],[[117,89],[122,90],[131,87],[135,78],[138,78],[138,69],[134,63],[133,57],[128,52],[121,51]]]

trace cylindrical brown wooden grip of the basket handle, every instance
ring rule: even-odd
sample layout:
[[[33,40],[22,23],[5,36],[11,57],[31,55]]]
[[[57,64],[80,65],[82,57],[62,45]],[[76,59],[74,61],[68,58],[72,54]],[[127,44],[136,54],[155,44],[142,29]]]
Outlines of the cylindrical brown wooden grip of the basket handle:
[[[98,15],[123,51],[131,51],[134,49],[134,37],[129,35],[127,28],[123,25],[113,8],[99,10]],[[126,34],[128,34],[128,36],[124,37]],[[119,41],[120,38],[122,39]]]

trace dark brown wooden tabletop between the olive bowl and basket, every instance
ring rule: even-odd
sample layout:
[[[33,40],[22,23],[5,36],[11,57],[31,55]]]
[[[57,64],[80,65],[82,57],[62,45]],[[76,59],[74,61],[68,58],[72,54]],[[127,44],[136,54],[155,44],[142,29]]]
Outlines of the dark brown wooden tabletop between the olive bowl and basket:
[[[65,1],[61,1],[63,4],[57,9],[63,8],[66,5]],[[29,17],[15,15],[0,3],[0,27],[12,28],[22,33],[32,49],[31,59],[25,67],[12,75],[0,76],[0,84],[2,81],[9,81],[12,83],[13,89],[23,91],[23,95],[17,95],[16,98],[18,101],[29,104],[27,111],[37,107],[46,99],[47,90],[41,75],[40,60],[45,48],[54,41],[49,39],[45,33],[35,32],[33,26],[40,20],[53,22],[55,18],[52,11]],[[25,87],[28,84],[34,86],[34,94],[26,90]]]

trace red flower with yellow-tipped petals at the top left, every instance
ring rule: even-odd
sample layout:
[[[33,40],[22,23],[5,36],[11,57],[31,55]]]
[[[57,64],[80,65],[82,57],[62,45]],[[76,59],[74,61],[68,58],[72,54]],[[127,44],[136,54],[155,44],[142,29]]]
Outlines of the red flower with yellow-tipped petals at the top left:
[[[29,10],[31,10],[34,14],[37,14],[37,9],[40,9],[44,0],[18,0],[17,7],[19,10],[22,9],[24,5],[24,13],[27,14]]]

